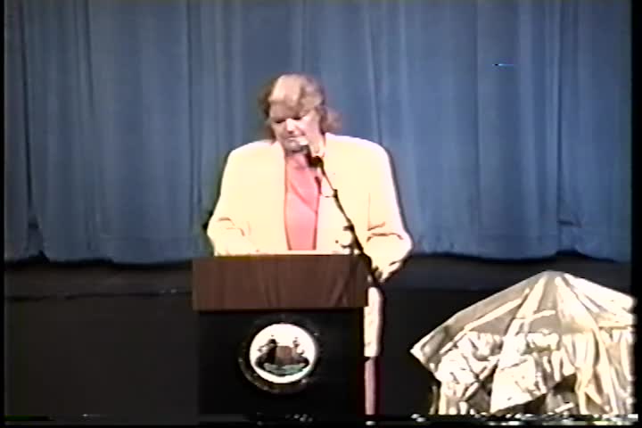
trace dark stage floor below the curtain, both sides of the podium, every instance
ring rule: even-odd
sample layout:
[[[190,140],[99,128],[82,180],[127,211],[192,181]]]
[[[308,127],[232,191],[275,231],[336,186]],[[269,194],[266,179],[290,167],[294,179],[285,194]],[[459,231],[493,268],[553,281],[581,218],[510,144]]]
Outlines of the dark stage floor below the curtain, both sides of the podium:
[[[416,341],[458,310],[544,270],[630,292],[630,264],[577,255],[410,259],[385,290],[381,413],[425,412],[431,376],[409,354]],[[195,421],[198,335],[190,280],[188,264],[5,267],[5,415]]]

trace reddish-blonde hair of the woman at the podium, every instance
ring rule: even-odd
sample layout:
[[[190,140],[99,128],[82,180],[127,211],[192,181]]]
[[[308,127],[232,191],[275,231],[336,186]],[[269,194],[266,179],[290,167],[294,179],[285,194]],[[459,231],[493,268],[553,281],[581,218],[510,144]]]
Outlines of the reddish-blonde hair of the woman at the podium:
[[[307,74],[284,74],[272,78],[259,95],[259,109],[263,115],[263,131],[274,138],[269,112],[273,103],[283,103],[292,111],[316,109],[319,114],[321,133],[335,133],[341,128],[341,118],[326,103],[325,89],[316,78]]]

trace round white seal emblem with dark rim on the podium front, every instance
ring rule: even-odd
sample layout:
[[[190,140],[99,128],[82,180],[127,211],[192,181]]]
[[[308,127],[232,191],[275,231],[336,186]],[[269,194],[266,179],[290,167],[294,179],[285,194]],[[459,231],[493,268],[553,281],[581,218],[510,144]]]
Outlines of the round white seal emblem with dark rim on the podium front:
[[[259,330],[243,347],[243,373],[259,388],[276,392],[300,391],[309,383],[318,358],[313,333],[300,325],[277,322]]]

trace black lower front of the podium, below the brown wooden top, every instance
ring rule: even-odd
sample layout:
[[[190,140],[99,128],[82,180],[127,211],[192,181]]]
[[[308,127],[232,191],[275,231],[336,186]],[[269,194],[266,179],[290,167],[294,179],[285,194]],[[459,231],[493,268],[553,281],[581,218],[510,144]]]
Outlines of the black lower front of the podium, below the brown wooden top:
[[[313,337],[314,350],[300,348],[310,359],[303,378],[257,368],[258,350],[267,349],[259,347],[266,342],[261,339],[278,336],[270,333],[278,331],[269,330],[274,325],[296,325]],[[305,333],[301,336],[295,340],[305,344]],[[287,346],[280,348],[290,355]],[[201,312],[199,413],[244,415],[250,420],[284,415],[315,420],[362,417],[363,350],[362,309]],[[284,382],[292,377],[296,382]]]

